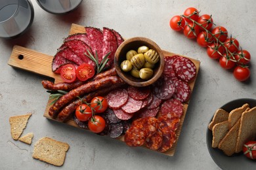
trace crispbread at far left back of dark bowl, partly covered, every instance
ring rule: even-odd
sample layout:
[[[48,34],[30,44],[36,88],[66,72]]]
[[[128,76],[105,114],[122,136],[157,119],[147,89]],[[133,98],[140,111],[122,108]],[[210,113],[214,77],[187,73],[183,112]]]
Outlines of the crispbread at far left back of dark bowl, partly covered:
[[[213,116],[213,120],[211,121],[211,123],[209,124],[208,128],[210,130],[213,130],[213,126],[215,126],[215,124],[224,122],[226,120],[228,120],[228,112],[226,112],[223,109],[218,109],[216,110],[214,116]]]

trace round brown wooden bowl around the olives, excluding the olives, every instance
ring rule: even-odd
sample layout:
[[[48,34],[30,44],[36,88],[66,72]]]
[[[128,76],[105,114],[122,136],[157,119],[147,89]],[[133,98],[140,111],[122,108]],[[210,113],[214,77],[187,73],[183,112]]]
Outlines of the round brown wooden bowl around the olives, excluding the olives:
[[[160,56],[160,60],[158,63],[156,63],[154,67],[154,75],[152,78],[148,80],[143,80],[141,78],[135,78],[132,76],[129,72],[124,72],[121,70],[121,62],[126,59],[126,53],[129,50],[135,50],[140,46],[148,46],[148,48],[155,50],[158,52]],[[134,37],[131,39],[127,39],[124,41],[116,50],[115,58],[114,58],[114,65],[116,67],[117,75],[119,75],[127,84],[130,84],[131,86],[137,86],[137,87],[142,87],[142,86],[148,86],[158,78],[160,78],[161,74],[163,73],[163,67],[164,67],[164,58],[163,58],[163,52],[161,51],[160,47],[158,44],[156,44],[154,41],[144,38],[144,37]]]

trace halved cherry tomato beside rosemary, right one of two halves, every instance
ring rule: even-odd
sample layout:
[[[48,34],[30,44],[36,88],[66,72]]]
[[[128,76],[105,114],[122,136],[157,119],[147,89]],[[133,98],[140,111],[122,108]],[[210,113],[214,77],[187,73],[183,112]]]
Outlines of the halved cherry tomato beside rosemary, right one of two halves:
[[[92,65],[83,63],[76,69],[76,76],[79,80],[85,81],[95,75],[95,69]]]

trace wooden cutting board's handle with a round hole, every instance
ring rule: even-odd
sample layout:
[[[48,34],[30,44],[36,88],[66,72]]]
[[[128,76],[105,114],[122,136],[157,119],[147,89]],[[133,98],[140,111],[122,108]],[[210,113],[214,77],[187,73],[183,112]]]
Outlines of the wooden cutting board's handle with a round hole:
[[[55,82],[60,82],[60,75],[56,75],[51,69],[52,61],[53,56],[30,50],[22,46],[14,46],[8,64],[18,69],[23,69],[43,76],[49,76],[54,78]]]

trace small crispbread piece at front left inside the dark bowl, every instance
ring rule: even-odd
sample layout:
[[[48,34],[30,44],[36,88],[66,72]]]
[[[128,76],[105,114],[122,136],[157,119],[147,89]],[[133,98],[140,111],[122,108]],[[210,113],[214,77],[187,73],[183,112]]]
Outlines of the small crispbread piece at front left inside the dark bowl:
[[[228,120],[215,124],[213,126],[213,143],[212,147],[217,148],[223,137],[228,133]]]

